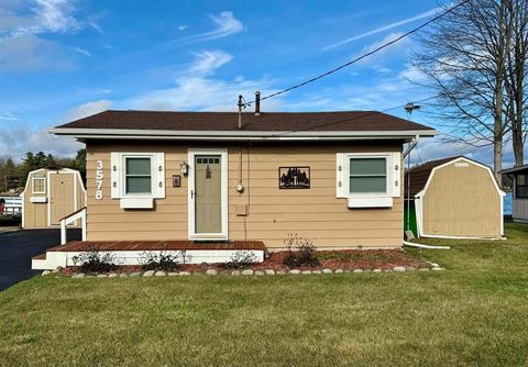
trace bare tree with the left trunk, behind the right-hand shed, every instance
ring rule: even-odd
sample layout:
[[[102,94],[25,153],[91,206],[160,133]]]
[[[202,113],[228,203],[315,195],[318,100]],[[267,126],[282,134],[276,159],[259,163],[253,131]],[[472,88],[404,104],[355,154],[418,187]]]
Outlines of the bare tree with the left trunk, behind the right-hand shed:
[[[413,57],[414,66],[426,76],[422,85],[438,96],[431,113],[447,130],[447,140],[493,146],[498,182],[503,146],[510,131],[505,91],[512,1],[463,3],[422,33],[421,52]],[[448,9],[450,3],[443,7]]]

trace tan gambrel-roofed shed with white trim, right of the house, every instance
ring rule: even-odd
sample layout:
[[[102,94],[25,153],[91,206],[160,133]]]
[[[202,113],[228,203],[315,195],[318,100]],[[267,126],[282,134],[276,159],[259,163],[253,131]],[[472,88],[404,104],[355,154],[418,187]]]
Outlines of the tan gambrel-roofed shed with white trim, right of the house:
[[[505,192],[492,169],[479,162],[459,156],[414,167],[405,191],[415,209],[409,214],[416,215],[418,236],[501,238],[504,234]]]

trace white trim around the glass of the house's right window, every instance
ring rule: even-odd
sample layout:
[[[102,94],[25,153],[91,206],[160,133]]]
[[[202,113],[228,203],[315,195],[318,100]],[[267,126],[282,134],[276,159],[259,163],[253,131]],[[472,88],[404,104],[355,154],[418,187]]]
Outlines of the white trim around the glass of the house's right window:
[[[369,158],[384,158],[385,159],[385,192],[350,192],[350,160],[351,159],[369,159]],[[344,162],[342,167],[343,193],[345,198],[392,198],[389,182],[392,178],[392,153],[344,153]]]

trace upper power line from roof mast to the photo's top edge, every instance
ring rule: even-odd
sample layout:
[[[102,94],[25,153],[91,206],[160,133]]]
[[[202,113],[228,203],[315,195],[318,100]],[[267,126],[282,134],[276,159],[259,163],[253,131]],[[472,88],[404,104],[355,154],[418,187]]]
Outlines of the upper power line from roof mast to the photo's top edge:
[[[365,54],[363,54],[363,55],[361,55],[361,56],[359,56],[359,57],[356,57],[356,58],[354,58],[354,59],[352,59],[352,60],[350,60],[350,62],[348,62],[348,63],[345,63],[345,64],[342,64],[342,65],[340,65],[340,66],[338,66],[338,67],[336,67],[336,68],[333,68],[333,69],[331,69],[331,70],[329,70],[329,71],[326,71],[326,73],[323,73],[323,74],[320,74],[320,75],[318,75],[318,76],[316,76],[316,77],[314,77],[314,78],[310,78],[310,79],[308,79],[308,80],[305,80],[305,81],[302,81],[302,82],[299,82],[299,84],[297,84],[297,85],[294,85],[294,86],[292,86],[292,87],[288,87],[288,88],[286,88],[286,89],[276,91],[276,92],[274,92],[274,93],[264,96],[264,97],[261,98],[261,101],[262,101],[262,100],[265,100],[265,99],[274,98],[274,97],[284,94],[284,93],[286,93],[286,92],[288,92],[288,91],[290,91],[290,90],[294,90],[294,89],[304,87],[304,86],[306,86],[306,85],[308,85],[308,84],[310,84],[310,82],[317,81],[317,80],[322,79],[322,78],[324,78],[324,77],[327,77],[327,76],[329,76],[329,75],[331,75],[331,74],[334,74],[334,73],[337,73],[337,71],[339,71],[339,70],[341,70],[341,69],[343,69],[343,68],[345,68],[345,67],[348,67],[348,66],[350,66],[350,65],[352,65],[352,64],[355,64],[355,63],[362,60],[362,59],[365,58],[365,57],[369,57],[369,56],[371,56],[371,55],[374,55],[375,53],[377,53],[377,52],[380,52],[380,51],[382,51],[382,49],[384,49],[384,48],[386,48],[386,47],[388,47],[388,46],[397,43],[398,41],[402,41],[403,38],[411,35],[413,33],[416,33],[416,32],[420,31],[421,29],[424,29],[424,27],[426,27],[427,25],[436,22],[436,21],[439,20],[440,18],[449,14],[449,13],[452,12],[453,10],[462,7],[463,4],[465,4],[465,3],[468,3],[468,2],[470,2],[470,0],[463,0],[463,1],[459,2],[457,5],[449,8],[448,10],[446,10],[444,12],[442,12],[441,14],[438,14],[437,16],[428,20],[427,22],[422,23],[421,25],[419,25],[419,26],[417,26],[417,27],[408,31],[407,33],[404,33],[404,34],[402,34],[400,36],[398,36],[398,37],[396,37],[396,38],[394,38],[394,40],[392,40],[392,41],[389,41],[389,42],[387,42],[387,43],[385,43],[385,44],[383,44],[383,45],[374,48],[373,51],[370,51],[370,52],[367,52],[367,53],[365,53]],[[253,102],[254,102],[254,100],[251,101],[251,102],[249,102],[248,104],[251,104],[251,103],[253,103]]]

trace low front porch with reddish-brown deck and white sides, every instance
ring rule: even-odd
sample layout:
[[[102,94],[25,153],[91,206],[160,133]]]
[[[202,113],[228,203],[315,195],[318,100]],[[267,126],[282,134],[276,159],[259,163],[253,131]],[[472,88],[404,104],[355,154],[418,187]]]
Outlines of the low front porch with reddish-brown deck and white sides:
[[[32,258],[34,270],[52,270],[67,267],[81,253],[97,249],[101,255],[111,253],[116,265],[141,265],[145,253],[180,255],[185,253],[187,264],[228,263],[239,252],[253,254],[257,263],[264,260],[266,247],[262,241],[195,242],[195,241],[73,241],[48,248],[45,254]]]

